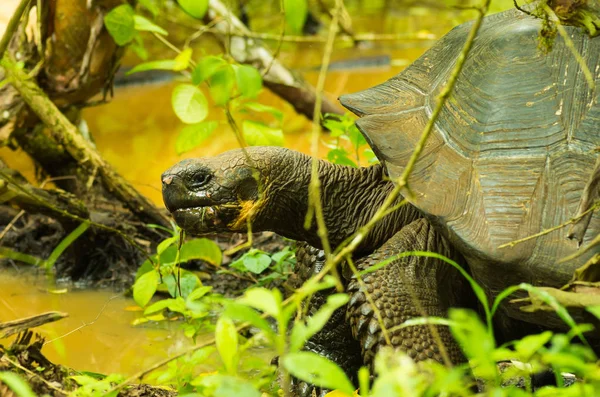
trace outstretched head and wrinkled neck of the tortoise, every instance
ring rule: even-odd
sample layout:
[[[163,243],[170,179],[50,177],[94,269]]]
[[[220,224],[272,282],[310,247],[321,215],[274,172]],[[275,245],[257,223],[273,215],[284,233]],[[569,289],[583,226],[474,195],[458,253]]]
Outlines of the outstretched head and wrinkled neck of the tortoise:
[[[212,158],[183,160],[163,174],[163,198],[175,221],[192,234],[273,231],[321,247],[316,226],[304,229],[312,158],[278,147],[232,150]],[[255,177],[258,177],[258,181]],[[352,168],[319,160],[321,197],[332,247],[366,224],[392,182],[381,165]],[[400,199],[398,200],[400,202]],[[357,252],[371,252],[421,214],[405,205],[385,217]]]

